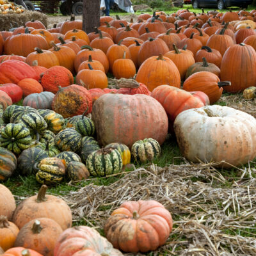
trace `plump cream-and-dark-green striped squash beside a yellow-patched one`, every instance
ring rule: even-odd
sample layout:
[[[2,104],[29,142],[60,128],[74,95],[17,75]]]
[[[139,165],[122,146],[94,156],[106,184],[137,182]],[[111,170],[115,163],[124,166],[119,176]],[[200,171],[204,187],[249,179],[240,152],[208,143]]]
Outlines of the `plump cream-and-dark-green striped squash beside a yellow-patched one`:
[[[86,166],[92,176],[104,177],[122,170],[122,157],[117,149],[102,148],[92,152],[86,160]]]

